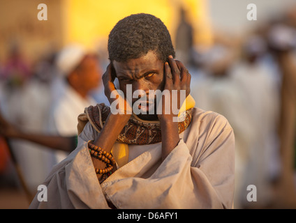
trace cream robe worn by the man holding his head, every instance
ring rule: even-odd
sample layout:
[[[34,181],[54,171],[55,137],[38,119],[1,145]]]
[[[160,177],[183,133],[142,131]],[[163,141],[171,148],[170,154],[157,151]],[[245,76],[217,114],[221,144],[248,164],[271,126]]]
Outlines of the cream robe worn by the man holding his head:
[[[90,123],[78,146],[57,164],[43,183],[47,201],[30,208],[232,208],[235,179],[235,139],[221,115],[193,109],[179,144],[161,162],[161,143],[129,145],[128,163],[101,185],[87,142],[98,132]]]

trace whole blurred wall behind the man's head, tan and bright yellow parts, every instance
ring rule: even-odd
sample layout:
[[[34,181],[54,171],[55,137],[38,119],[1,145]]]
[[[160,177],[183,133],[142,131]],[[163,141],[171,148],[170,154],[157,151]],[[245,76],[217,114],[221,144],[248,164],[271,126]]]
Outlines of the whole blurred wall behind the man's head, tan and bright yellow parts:
[[[47,4],[47,21],[39,21],[38,4]],[[36,61],[50,49],[82,43],[90,49],[106,49],[112,27],[133,13],[159,17],[175,40],[179,6],[188,10],[195,43],[210,43],[207,0],[0,0],[0,62],[13,41],[20,43],[28,61]]]

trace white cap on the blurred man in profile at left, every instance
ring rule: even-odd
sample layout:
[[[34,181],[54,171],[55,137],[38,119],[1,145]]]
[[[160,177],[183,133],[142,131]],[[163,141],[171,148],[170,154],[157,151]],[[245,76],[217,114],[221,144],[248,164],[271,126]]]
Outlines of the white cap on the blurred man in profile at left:
[[[67,76],[82,61],[87,54],[81,45],[68,45],[57,56],[57,68],[61,75]]]

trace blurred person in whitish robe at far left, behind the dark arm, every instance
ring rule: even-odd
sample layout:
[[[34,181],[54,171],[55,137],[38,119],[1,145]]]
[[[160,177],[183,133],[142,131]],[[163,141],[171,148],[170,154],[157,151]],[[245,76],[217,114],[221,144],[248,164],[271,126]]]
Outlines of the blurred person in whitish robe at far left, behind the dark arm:
[[[16,51],[17,55],[20,55],[19,50],[13,52]],[[20,56],[14,58],[20,58]],[[15,59],[15,61],[20,61],[20,59]],[[37,61],[36,66],[41,61],[43,59]],[[3,91],[1,92],[1,113],[10,123],[17,125],[24,132],[44,131],[45,121],[48,118],[47,111],[51,103],[50,82],[41,81],[40,72],[36,71],[36,66],[32,66],[28,71],[29,66],[24,66],[24,62],[8,64],[9,66],[4,69],[6,75],[3,76],[5,79],[3,79]],[[21,75],[21,73],[24,74]],[[47,75],[51,77],[52,73],[47,72]],[[45,158],[47,151],[40,150],[39,145],[19,139],[11,140],[10,147],[20,164],[29,189],[36,190],[40,180],[47,174],[44,168],[47,165]],[[13,172],[11,168],[7,171]]]

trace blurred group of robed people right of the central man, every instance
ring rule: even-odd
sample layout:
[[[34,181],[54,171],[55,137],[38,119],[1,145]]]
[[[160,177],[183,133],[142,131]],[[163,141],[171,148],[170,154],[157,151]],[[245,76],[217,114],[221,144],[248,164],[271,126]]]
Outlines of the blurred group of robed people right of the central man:
[[[238,41],[217,36],[210,49],[193,48],[196,105],[223,114],[235,132],[235,208],[296,208],[296,8]]]

